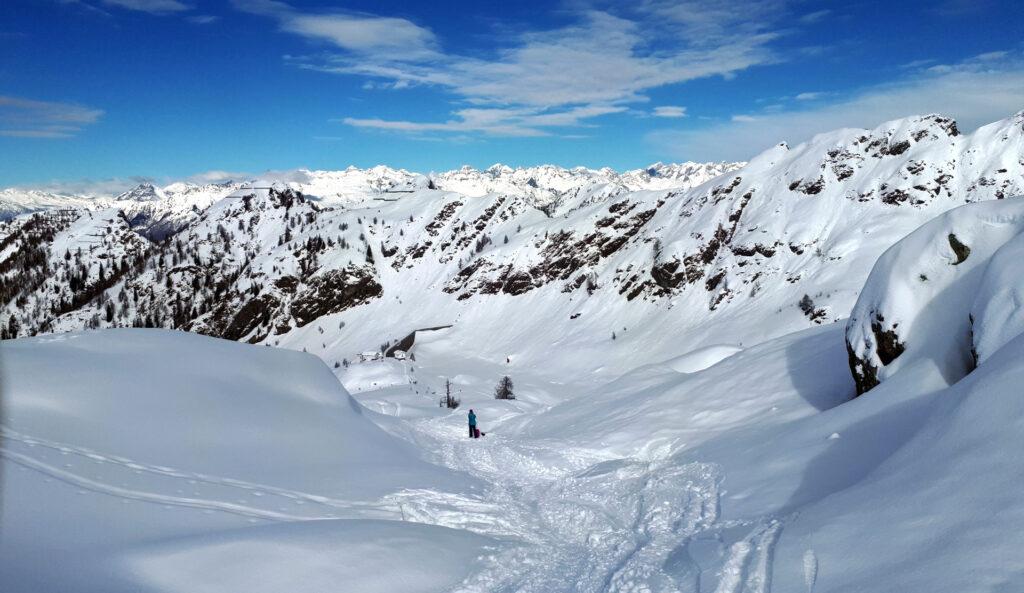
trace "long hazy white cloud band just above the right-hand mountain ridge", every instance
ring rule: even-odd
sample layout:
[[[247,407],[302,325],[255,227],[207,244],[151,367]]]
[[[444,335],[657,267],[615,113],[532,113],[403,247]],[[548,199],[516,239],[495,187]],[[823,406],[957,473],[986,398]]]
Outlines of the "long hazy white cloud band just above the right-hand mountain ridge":
[[[939,113],[955,118],[968,131],[1022,109],[1024,59],[981,56],[867,88],[838,102],[751,120],[733,118],[699,130],[652,132],[648,140],[672,159],[745,160],[779,141],[794,144],[838,128],[873,128],[887,120]]]

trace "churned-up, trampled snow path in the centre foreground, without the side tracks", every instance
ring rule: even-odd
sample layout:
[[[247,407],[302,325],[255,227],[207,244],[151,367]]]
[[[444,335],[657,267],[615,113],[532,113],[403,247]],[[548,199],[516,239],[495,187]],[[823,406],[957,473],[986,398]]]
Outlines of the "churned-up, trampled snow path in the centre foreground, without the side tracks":
[[[513,542],[460,592],[770,591],[781,522],[719,520],[713,465],[608,459],[500,434],[467,438],[451,418],[411,423],[439,461],[490,484],[480,499],[406,491],[409,520]]]

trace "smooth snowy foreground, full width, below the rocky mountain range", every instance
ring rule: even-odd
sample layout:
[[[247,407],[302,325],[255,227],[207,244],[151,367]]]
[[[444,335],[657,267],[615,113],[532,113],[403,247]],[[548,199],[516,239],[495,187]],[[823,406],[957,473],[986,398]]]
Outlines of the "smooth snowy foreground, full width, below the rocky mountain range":
[[[436,330],[415,361],[336,370],[351,396],[311,355],[187,333],[5,340],[0,578],[17,593],[1015,590],[1022,204],[964,206],[879,260],[858,309],[898,304],[915,333],[855,399],[838,324],[648,349],[612,381]],[[976,246],[966,259],[944,252],[950,227]],[[955,296],[907,298],[907,271],[972,258],[929,268]],[[986,320],[966,377],[953,301]],[[513,356],[531,349],[557,346]],[[502,374],[517,399],[489,393]],[[454,413],[435,404],[443,377]]]

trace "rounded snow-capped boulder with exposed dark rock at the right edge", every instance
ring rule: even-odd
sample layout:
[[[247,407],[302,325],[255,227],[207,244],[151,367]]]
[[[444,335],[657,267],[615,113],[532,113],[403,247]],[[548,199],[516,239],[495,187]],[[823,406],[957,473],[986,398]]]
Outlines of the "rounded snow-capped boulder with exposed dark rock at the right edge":
[[[1024,200],[970,204],[933,219],[886,251],[847,323],[858,393],[923,358],[934,362],[952,384],[977,364],[972,333],[983,340],[986,355],[1006,343],[1012,337],[1007,332],[1017,326],[999,322],[1014,316],[1017,306],[993,296],[1008,289],[1001,277],[1013,273],[1008,269],[1014,265],[1002,263],[991,273],[987,268],[1004,246],[1016,245],[1012,240],[1022,230]],[[986,291],[979,295],[986,276]],[[973,327],[976,308],[986,317],[978,329]]]

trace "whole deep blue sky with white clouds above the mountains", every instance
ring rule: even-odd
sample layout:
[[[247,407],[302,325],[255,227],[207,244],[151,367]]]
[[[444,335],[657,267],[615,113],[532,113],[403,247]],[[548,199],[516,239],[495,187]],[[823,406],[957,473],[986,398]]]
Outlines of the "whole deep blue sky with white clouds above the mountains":
[[[0,186],[741,160],[1024,109],[1018,2],[5,0]]]

